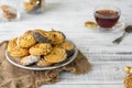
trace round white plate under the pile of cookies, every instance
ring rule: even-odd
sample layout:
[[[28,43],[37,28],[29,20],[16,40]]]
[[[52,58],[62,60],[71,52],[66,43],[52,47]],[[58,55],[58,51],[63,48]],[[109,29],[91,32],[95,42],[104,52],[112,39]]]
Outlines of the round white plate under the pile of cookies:
[[[59,63],[59,64],[55,64],[55,65],[48,66],[48,67],[38,67],[38,66],[36,66],[36,65],[33,65],[33,66],[24,66],[24,65],[21,65],[21,64],[19,63],[19,59],[20,59],[20,58],[14,58],[14,57],[12,57],[8,51],[6,51],[6,57],[7,57],[7,59],[8,59],[12,65],[18,66],[18,67],[21,67],[21,68],[24,68],[24,69],[46,70],[46,69],[58,68],[58,67],[62,67],[62,66],[65,66],[65,65],[72,63],[72,62],[76,58],[77,53],[78,53],[78,50],[77,50],[77,47],[75,46],[75,48],[74,48],[74,54],[73,54],[70,57],[68,57],[65,62],[62,62],[62,63]]]

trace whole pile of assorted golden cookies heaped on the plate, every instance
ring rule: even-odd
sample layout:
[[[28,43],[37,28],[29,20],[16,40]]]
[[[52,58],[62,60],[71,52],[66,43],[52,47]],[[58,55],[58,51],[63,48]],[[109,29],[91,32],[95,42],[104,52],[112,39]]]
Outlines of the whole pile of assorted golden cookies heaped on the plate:
[[[61,31],[37,29],[12,38],[8,44],[8,52],[14,59],[18,57],[21,65],[51,66],[70,57],[74,45],[66,41]]]

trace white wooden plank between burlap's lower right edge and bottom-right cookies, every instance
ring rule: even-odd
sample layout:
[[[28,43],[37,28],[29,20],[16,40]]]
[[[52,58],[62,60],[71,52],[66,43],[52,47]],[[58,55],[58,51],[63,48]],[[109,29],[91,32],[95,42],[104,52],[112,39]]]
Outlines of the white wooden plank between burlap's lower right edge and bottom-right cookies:
[[[69,73],[62,73],[61,81],[58,84],[120,84],[122,85],[127,74],[123,67],[132,65],[131,62],[117,63],[95,63],[91,62],[91,70],[84,75],[73,75]]]

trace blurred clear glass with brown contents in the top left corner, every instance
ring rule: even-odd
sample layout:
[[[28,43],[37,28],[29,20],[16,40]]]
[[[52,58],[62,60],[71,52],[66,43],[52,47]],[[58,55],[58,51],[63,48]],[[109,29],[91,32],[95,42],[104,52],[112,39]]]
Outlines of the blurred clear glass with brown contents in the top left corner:
[[[18,21],[21,18],[20,13],[19,0],[0,0],[0,22]]]

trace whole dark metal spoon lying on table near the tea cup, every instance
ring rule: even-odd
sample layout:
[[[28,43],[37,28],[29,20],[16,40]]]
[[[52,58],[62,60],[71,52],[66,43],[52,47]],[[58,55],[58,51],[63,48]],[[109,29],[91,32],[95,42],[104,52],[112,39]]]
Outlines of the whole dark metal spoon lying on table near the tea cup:
[[[128,26],[124,29],[123,35],[120,36],[120,37],[118,37],[118,38],[116,38],[116,40],[113,41],[113,43],[120,44],[120,42],[123,40],[123,37],[124,37],[125,35],[128,35],[129,33],[132,33],[132,25],[128,25]]]

